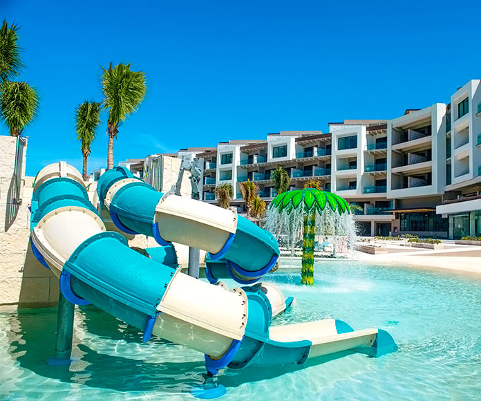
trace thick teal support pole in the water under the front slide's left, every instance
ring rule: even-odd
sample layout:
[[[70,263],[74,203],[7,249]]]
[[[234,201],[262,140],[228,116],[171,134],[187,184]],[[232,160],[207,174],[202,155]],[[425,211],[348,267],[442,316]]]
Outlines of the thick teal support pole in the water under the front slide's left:
[[[67,301],[62,292],[59,292],[55,355],[47,360],[49,365],[68,365],[71,362],[74,312],[75,304]]]

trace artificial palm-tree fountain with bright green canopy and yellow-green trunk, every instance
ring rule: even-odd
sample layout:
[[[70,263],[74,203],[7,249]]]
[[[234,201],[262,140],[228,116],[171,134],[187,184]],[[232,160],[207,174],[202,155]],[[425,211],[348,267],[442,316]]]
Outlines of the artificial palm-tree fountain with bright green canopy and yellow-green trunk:
[[[317,224],[319,216],[328,214],[330,218],[324,219]],[[303,222],[302,241],[302,283],[312,286],[314,282],[314,239],[317,234],[317,225],[322,225],[323,234],[342,234],[339,225],[342,224],[339,218],[333,215],[342,216],[350,214],[349,204],[346,200],[315,188],[295,189],[283,192],[274,198],[267,215],[268,221],[279,220],[279,217],[290,216],[288,221],[293,232],[296,231],[296,224]],[[326,223],[327,221],[327,223]],[[269,227],[271,230],[276,226]]]

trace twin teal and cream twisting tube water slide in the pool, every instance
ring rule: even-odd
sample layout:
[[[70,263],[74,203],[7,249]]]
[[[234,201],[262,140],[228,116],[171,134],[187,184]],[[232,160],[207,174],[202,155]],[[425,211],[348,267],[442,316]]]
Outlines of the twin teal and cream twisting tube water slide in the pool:
[[[156,335],[200,351],[211,375],[225,366],[303,364],[339,351],[380,356],[397,349],[386,331],[353,330],[337,319],[271,327],[290,301],[256,281],[272,270],[279,248],[270,233],[234,210],[160,194],[118,167],[102,176],[97,190],[117,227],[151,235],[162,247],[149,257],[129,248],[122,234],[106,231],[81,174],[59,162],[37,176],[32,250],[59,278],[68,301],[94,304],[140,328],[144,342]],[[227,290],[182,273],[172,242],[207,251],[208,261],[222,260],[217,264],[236,281],[251,285]]]

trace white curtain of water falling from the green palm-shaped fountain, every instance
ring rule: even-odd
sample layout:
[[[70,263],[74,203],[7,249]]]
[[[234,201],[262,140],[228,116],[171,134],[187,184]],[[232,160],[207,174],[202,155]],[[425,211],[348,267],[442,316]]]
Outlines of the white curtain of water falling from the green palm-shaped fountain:
[[[357,243],[356,223],[352,214],[339,214],[326,207],[322,213],[316,213],[316,241],[318,245],[329,245],[332,257],[352,257]],[[290,213],[279,212],[277,207],[267,210],[265,229],[272,232],[277,241],[290,250],[302,243],[305,211],[303,208],[292,209]],[[327,239],[326,239],[327,237]]]

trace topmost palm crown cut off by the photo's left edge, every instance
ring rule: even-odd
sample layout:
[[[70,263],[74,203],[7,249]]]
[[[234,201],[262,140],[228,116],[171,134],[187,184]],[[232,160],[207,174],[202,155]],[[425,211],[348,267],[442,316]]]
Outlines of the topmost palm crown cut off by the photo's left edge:
[[[21,48],[17,45],[19,26],[3,20],[0,28],[0,84],[17,77],[23,63],[20,59]]]

